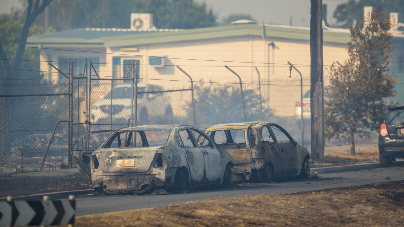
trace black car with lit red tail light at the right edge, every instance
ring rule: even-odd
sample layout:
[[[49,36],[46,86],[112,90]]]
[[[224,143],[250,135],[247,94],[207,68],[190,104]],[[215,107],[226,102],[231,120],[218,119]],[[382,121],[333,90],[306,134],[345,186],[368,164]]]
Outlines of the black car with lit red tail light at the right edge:
[[[390,107],[380,126],[380,165],[389,167],[395,158],[404,158],[404,105]]]

